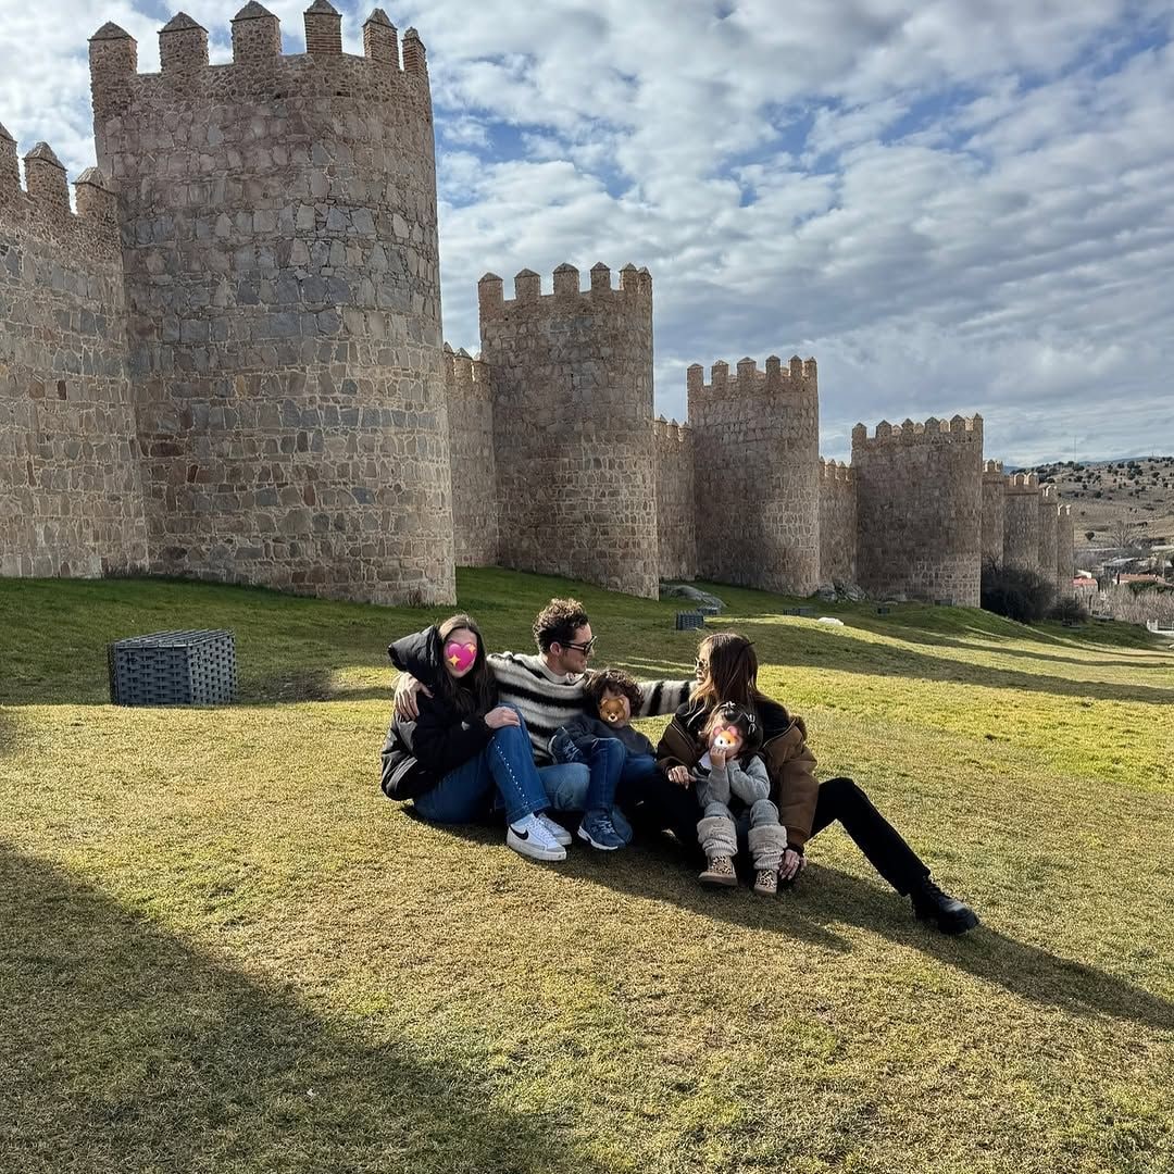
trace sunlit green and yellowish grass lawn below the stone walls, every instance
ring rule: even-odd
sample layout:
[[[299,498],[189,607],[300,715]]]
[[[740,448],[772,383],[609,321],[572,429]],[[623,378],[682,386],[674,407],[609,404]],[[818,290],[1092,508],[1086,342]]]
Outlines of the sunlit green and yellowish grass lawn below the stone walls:
[[[598,663],[691,670],[672,602],[458,586],[491,647],[573,592]],[[1174,652],[715,589],[979,930],[835,828],[765,899],[414,822],[385,646],[443,609],[0,580],[0,1170],[1174,1169]],[[107,642],[181,627],[235,630],[239,703],[110,707]]]

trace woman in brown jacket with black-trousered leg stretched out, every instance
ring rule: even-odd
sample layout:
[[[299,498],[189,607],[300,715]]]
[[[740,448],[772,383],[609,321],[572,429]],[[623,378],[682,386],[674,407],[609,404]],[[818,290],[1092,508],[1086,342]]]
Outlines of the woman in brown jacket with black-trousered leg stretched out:
[[[661,738],[657,761],[672,782],[690,785],[699,738],[713,710],[726,703],[751,710],[762,726],[758,753],[767,763],[780,822],[787,828],[787,850],[778,868],[782,884],[792,883],[802,872],[808,839],[838,819],[880,876],[912,899],[918,918],[935,922],[945,933],[965,933],[978,924],[970,906],[930,879],[930,870],[852,780],[816,783],[803,720],[758,691],[758,657],[745,636],[734,632],[706,636],[697,648],[696,675],[689,701]]]

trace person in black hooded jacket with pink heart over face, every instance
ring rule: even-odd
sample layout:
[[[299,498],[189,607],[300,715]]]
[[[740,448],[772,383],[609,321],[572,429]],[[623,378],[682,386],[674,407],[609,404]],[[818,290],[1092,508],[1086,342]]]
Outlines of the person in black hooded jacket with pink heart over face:
[[[418,717],[397,717],[389,735],[437,780],[414,796],[417,814],[433,823],[472,823],[504,807],[506,843],[515,852],[566,859],[571,836],[544,814],[549,799],[529,734],[517,709],[498,704],[477,625],[467,615],[453,615],[397,640],[387,652],[396,668],[436,682],[431,696],[420,695]],[[386,747],[384,753],[386,761]]]

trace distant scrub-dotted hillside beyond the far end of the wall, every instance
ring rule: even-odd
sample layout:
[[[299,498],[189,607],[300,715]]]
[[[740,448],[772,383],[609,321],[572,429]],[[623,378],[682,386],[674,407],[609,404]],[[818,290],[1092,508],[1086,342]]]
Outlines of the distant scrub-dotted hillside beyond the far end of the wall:
[[[1112,546],[1120,521],[1138,522],[1149,541],[1174,544],[1174,457],[1054,461],[1028,472],[1054,483],[1060,500],[1071,504],[1078,551]]]

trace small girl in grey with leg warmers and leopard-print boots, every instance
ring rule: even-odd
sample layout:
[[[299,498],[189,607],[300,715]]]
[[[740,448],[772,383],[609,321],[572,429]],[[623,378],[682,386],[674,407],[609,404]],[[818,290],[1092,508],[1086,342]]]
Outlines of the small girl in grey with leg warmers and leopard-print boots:
[[[770,802],[767,764],[755,753],[762,727],[749,709],[728,702],[714,709],[701,738],[707,750],[693,768],[702,809],[697,839],[708,861],[701,883],[737,884],[734,857],[741,830],[754,859],[754,891],[777,892],[787,829]]]

